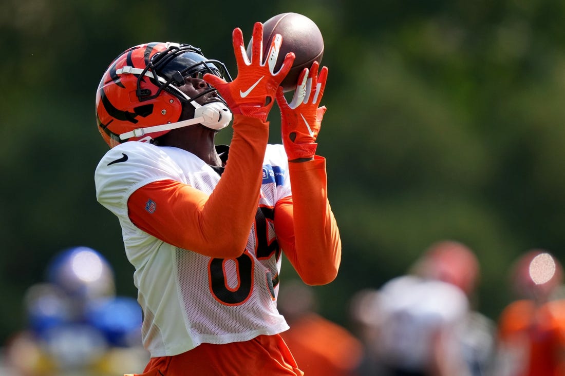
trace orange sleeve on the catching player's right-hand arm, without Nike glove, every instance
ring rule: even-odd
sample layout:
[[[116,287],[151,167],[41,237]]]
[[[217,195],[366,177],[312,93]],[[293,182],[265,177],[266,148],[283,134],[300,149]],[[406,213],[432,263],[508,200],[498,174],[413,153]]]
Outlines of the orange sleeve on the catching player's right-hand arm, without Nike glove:
[[[289,163],[292,199],[275,207],[279,244],[302,281],[325,285],[337,276],[341,238],[327,197],[325,159]]]

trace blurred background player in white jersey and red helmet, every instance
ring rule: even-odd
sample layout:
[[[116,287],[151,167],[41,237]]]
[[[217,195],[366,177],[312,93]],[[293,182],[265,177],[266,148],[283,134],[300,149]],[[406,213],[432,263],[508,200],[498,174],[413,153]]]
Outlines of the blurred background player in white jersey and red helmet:
[[[470,318],[469,296],[478,277],[479,263],[470,248],[441,241],[416,261],[410,274],[385,283],[375,304],[381,373],[484,375],[488,356],[477,350],[492,348],[490,333]],[[485,342],[468,338],[477,330],[486,334]]]

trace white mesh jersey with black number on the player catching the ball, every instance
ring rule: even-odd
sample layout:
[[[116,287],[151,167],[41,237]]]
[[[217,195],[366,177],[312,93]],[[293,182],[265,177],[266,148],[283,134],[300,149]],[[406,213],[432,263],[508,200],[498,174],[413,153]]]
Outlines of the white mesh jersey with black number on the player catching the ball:
[[[291,194],[281,145],[267,146],[257,216],[237,259],[177,248],[138,229],[128,217],[129,196],[148,183],[175,180],[210,194],[219,179],[187,151],[142,142],[112,148],[96,169],[97,199],[119,218],[125,252],[136,269],[134,283],[145,315],[142,339],[152,357],[288,329],[276,309],[281,253],[270,221],[277,200]],[[147,210],[152,209],[148,201]]]

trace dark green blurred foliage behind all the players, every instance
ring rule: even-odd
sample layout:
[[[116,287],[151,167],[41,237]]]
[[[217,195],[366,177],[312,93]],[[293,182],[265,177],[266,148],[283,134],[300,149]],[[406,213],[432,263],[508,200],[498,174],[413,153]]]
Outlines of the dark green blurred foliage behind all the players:
[[[129,46],[177,41],[235,77],[233,28],[248,41],[255,21],[287,11],[318,23],[329,67],[318,151],[344,253],[336,281],[316,288],[321,313],[346,325],[354,292],[449,238],[479,256],[477,308],[496,319],[512,299],[516,257],[565,256],[562,1],[3,0],[2,9],[0,343],[25,325],[25,290],[64,248],[98,250],[118,294],[136,294],[118,220],[94,196],[107,150],[94,95],[107,64]],[[288,264],[285,278],[295,278]]]

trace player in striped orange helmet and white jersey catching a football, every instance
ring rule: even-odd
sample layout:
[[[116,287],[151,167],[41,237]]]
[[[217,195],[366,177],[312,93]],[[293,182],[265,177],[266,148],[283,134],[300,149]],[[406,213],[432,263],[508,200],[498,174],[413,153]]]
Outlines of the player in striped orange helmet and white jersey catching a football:
[[[136,269],[147,376],[302,375],[280,336],[281,251],[308,285],[337,275],[340,235],[315,155],[327,68],[305,69],[288,103],[279,85],[294,54],[273,72],[262,24],[252,40],[249,61],[233,32],[233,81],[199,49],[147,43],[120,54],[98,88],[111,150],[95,172],[97,199],[119,218]],[[282,145],[267,145],[275,100]],[[216,146],[232,113],[231,145]]]

